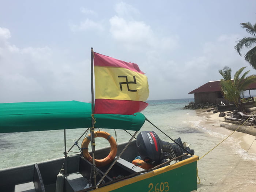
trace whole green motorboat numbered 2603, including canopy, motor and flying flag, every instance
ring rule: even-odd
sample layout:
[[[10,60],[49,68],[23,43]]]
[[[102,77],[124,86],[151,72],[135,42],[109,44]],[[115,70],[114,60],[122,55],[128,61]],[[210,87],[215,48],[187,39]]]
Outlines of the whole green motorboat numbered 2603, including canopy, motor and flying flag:
[[[145,101],[149,90],[147,77],[137,64],[95,53],[91,48],[91,95],[91,103],[0,103],[0,133],[64,130],[63,158],[1,169],[1,192],[197,189],[199,158],[194,150],[181,138],[170,138],[139,113],[148,105]],[[140,131],[145,121],[157,130]],[[80,136],[67,150],[66,129],[77,128],[85,129],[84,139],[79,144],[83,135]],[[105,129],[133,133],[129,133],[128,142],[117,145],[114,136]],[[173,143],[161,140],[157,132],[165,134]],[[110,146],[95,150],[97,137],[105,138]],[[80,153],[69,155],[74,146]]]

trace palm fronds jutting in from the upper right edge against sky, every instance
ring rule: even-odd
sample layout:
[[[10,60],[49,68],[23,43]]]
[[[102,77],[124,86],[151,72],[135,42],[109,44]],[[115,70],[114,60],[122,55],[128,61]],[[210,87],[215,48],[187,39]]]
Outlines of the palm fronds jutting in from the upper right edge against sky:
[[[253,37],[244,37],[242,39],[238,39],[238,43],[235,46],[235,50],[241,55],[241,50],[243,48],[251,48],[252,45],[256,44],[256,23],[252,25],[251,23],[240,23],[242,28],[246,29],[246,31],[251,34]],[[252,68],[256,69],[256,46],[249,50],[244,55],[245,61],[249,62]]]

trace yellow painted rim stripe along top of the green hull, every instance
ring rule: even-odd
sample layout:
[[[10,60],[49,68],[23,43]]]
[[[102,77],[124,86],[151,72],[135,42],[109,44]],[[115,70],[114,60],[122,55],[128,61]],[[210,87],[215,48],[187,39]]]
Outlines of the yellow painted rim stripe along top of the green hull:
[[[134,182],[138,182],[138,181],[141,181],[141,180],[144,180],[144,179],[147,179],[147,178],[150,178],[150,177],[153,177],[153,176],[156,176],[156,175],[168,172],[168,171],[176,169],[178,167],[187,165],[189,163],[197,161],[198,159],[199,159],[198,156],[193,155],[193,157],[185,159],[183,161],[174,163],[174,164],[169,165],[169,166],[161,167],[159,169],[156,169],[156,170],[153,170],[151,172],[138,175],[136,177],[129,178],[127,180],[119,181],[119,182],[117,182],[115,184],[111,184],[111,185],[108,185],[108,186],[105,186],[105,187],[102,187],[102,188],[95,189],[94,191],[95,192],[112,191],[114,189],[118,189],[118,188],[123,187],[125,185],[129,185],[129,184],[132,184]]]

